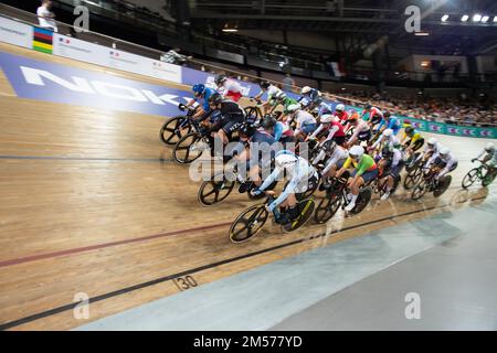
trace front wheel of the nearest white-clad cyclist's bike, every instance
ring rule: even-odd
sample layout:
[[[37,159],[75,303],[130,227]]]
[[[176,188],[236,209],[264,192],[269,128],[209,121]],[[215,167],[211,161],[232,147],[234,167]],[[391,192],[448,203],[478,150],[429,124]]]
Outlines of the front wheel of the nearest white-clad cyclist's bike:
[[[257,235],[267,221],[265,204],[254,205],[241,213],[230,227],[230,240],[236,244],[244,243]]]

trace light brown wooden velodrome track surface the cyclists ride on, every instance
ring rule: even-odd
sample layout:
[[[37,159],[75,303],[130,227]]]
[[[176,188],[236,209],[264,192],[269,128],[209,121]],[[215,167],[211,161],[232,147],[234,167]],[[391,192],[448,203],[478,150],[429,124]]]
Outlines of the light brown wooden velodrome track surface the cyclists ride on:
[[[110,71],[7,44],[0,50]],[[188,179],[188,168],[176,164],[171,149],[159,141],[163,117],[20,99],[2,73],[0,106],[4,330],[60,330],[87,322],[73,317],[77,292],[91,297],[89,320],[96,320],[179,292],[178,277],[191,276],[201,286],[313,247],[493,197],[487,189],[459,189],[469,156],[482,146],[469,141],[441,199],[427,194],[412,202],[401,191],[379,204],[374,196],[358,216],[343,220],[338,214],[327,226],[308,225],[287,235],[267,224],[256,238],[233,245],[229,225],[251,203],[233,193],[215,207],[200,206],[199,183]],[[440,139],[448,143],[448,138]]]

